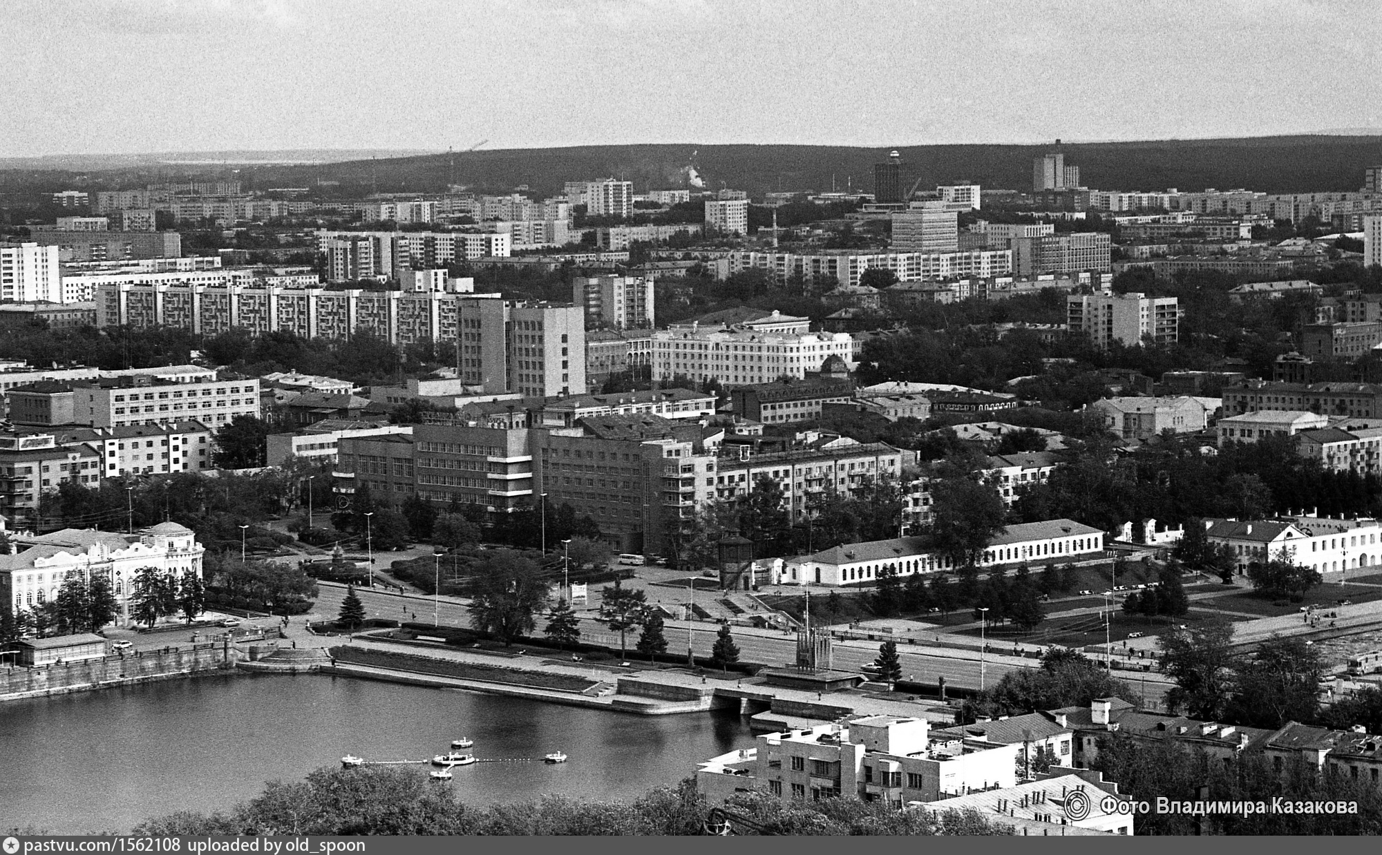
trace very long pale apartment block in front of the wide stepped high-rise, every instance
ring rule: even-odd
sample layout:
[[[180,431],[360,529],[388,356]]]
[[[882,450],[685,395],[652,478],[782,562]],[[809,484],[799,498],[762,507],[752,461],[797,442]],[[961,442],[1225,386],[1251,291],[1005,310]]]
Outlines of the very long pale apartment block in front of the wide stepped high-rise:
[[[1012,272],[1009,250],[970,250],[963,253],[860,253],[826,250],[818,254],[735,251],[728,256],[728,273],[761,269],[785,283],[793,276],[807,282],[833,278],[840,285],[855,286],[869,268],[887,268],[898,282],[922,279],[983,279]]]

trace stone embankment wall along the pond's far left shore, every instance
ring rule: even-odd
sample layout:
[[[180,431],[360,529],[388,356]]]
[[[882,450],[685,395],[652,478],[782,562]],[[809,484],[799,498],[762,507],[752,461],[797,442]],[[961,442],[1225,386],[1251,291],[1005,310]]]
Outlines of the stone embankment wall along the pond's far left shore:
[[[14,666],[0,669],[0,700],[62,695],[231,669],[242,656],[240,651],[227,644],[203,644],[196,649],[140,651],[124,656],[105,656],[41,669]]]

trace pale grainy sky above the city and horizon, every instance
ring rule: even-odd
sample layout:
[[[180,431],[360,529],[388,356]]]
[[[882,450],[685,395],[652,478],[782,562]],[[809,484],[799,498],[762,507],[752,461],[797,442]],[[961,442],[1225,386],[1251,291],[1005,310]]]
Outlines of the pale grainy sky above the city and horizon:
[[[1378,44],[1372,0],[43,0],[0,156],[1382,128]]]

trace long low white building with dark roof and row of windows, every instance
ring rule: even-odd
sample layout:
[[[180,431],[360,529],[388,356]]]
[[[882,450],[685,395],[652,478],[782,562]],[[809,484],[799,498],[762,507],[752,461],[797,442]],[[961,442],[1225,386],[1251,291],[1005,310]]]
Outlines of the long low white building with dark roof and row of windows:
[[[1010,525],[998,532],[978,558],[978,566],[1020,561],[1074,559],[1104,548],[1104,533],[1074,519],[1045,519]],[[886,569],[900,576],[958,569],[958,562],[929,548],[923,537],[893,537],[832,547],[793,558],[784,568],[786,583],[858,584],[873,582]]]

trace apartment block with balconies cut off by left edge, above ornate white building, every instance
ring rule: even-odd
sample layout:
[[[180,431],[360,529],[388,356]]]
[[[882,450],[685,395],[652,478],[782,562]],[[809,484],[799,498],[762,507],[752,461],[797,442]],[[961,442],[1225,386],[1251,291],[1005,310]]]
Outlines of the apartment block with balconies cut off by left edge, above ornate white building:
[[[53,431],[0,434],[0,515],[11,529],[36,526],[40,496],[65,481],[95,488],[101,472],[95,449],[59,443]]]

